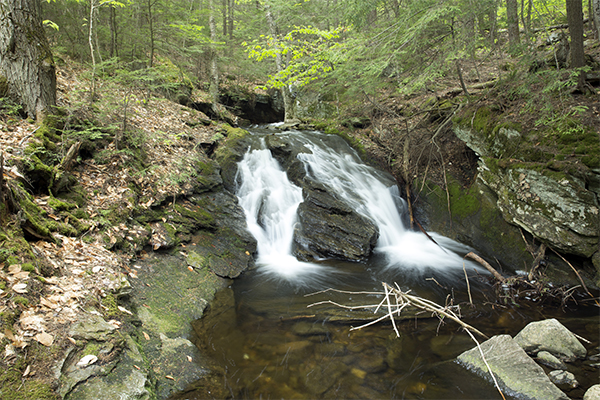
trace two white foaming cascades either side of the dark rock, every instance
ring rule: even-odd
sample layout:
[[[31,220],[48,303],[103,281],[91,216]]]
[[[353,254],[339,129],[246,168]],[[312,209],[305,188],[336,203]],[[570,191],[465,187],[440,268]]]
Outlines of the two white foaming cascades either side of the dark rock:
[[[334,150],[324,141],[330,142],[331,136],[299,132],[286,135],[303,142],[310,150],[298,158],[312,178],[333,189],[354,210],[377,225],[380,236],[375,253],[384,256],[385,268],[417,272],[463,268],[462,257],[433,243],[424,234],[406,229],[401,218],[404,201],[394,180],[363,164],[345,142],[341,148],[336,143]],[[261,148],[249,150],[238,165],[237,193],[249,229],[258,242],[257,264],[265,272],[288,279],[313,274],[324,267],[297,261],[291,253],[302,189],[287,179],[265,148],[264,139],[261,141]],[[468,251],[450,239],[439,235],[435,238],[445,247]]]

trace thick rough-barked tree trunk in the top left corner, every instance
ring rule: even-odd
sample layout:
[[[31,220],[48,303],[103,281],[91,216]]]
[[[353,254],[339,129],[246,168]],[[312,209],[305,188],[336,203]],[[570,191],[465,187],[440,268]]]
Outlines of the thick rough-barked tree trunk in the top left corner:
[[[38,0],[0,0],[0,81],[31,117],[56,105],[56,74]]]

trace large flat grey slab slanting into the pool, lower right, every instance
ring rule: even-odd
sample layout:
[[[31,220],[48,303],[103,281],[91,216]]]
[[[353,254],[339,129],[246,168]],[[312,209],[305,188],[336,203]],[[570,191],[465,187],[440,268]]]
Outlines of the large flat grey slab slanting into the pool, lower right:
[[[481,349],[503,392],[531,400],[568,400],[527,353],[509,335],[498,335],[481,344]],[[487,366],[477,347],[458,356],[457,361],[487,380]]]

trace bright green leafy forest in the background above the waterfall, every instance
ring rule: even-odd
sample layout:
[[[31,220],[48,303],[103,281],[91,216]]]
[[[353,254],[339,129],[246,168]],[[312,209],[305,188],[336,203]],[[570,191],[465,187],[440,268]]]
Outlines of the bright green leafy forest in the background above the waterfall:
[[[143,69],[138,79],[147,81],[175,66],[180,79],[206,90],[211,82],[298,87],[323,78],[320,90],[344,102],[382,85],[402,94],[436,92],[451,77],[464,86],[463,74],[481,80],[479,66],[503,62],[505,50],[532,63],[540,57],[538,39],[567,23],[566,3],[61,0],[44,2],[42,17],[56,56],[102,71],[117,63]],[[593,15],[598,4],[585,3]],[[588,34],[597,36],[593,20]]]

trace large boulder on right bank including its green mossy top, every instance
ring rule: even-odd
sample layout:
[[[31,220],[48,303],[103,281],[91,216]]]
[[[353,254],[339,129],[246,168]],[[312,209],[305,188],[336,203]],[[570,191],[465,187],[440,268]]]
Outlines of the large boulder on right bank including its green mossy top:
[[[538,137],[486,107],[471,121],[469,115],[455,119],[454,132],[479,155],[479,178],[504,219],[554,249],[592,257],[600,239],[600,174],[574,154],[597,155],[597,133],[580,125],[577,134]]]

